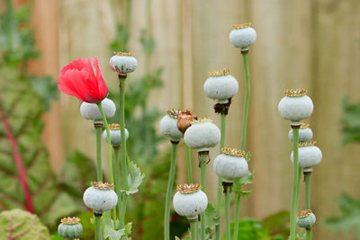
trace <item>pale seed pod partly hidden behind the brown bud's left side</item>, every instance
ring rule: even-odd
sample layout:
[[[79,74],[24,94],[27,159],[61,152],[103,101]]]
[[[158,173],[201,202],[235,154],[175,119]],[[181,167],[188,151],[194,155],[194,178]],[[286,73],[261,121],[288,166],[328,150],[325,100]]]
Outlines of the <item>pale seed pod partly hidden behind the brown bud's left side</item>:
[[[180,111],[169,110],[166,111],[166,115],[160,120],[160,132],[170,141],[178,143],[183,138],[183,133],[177,129],[177,116]]]

